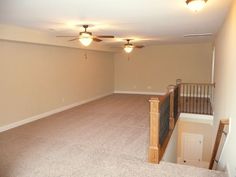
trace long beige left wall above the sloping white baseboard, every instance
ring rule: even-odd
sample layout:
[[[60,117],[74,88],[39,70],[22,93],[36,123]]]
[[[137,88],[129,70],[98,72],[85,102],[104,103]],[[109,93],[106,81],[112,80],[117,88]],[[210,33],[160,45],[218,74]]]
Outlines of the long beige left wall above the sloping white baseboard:
[[[113,54],[0,41],[0,127],[113,92]]]

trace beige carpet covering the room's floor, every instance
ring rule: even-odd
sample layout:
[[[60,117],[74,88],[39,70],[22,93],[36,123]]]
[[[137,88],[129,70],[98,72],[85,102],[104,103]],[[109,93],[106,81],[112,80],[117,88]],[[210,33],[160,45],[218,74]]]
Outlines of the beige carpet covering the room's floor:
[[[214,177],[147,163],[150,96],[112,95],[0,133],[0,177]]]

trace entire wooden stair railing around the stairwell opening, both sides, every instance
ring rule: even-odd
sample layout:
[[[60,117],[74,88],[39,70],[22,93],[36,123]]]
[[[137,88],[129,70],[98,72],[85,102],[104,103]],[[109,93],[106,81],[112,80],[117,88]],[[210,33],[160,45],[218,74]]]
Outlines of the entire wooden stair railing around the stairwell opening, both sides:
[[[182,83],[168,86],[168,92],[150,102],[150,140],[148,161],[159,163],[180,113],[212,115],[215,84]]]

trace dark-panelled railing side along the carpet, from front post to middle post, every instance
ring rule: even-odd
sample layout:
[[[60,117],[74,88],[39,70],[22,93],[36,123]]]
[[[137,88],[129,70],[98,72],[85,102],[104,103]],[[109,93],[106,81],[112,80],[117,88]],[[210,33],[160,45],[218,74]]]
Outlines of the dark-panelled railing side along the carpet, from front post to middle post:
[[[151,163],[159,163],[167,147],[174,129],[175,92],[176,86],[169,86],[168,92],[158,98],[151,98],[150,102],[150,144],[148,159]]]

